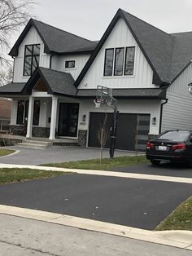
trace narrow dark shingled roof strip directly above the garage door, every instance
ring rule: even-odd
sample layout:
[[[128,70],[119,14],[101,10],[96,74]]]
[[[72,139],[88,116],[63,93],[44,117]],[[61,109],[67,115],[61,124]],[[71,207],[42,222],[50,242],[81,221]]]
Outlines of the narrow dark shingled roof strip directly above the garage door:
[[[116,99],[166,99],[166,90],[144,89],[113,89]],[[79,89],[76,94],[80,98],[95,98],[96,89]]]

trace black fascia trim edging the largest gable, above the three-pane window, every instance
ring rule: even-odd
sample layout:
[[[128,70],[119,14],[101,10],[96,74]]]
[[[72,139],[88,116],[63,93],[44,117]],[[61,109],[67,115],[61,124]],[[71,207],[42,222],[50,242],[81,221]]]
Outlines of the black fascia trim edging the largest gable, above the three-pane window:
[[[88,71],[90,65],[94,62],[94,59],[96,58],[96,56],[98,55],[98,52],[101,50],[104,42],[106,42],[108,36],[110,35],[112,29],[115,27],[116,22],[122,18],[124,20],[124,22],[127,24],[127,26],[129,27],[131,33],[133,34],[133,38],[135,39],[135,41],[137,42],[138,46],[140,46],[143,55],[146,57],[146,60],[148,61],[148,63],[150,64],[152,70],[153,70],[153,83],[155,85],[160,85],[163,82],[161,81],[158,73],[156,72],[153,64],[151,64],[151,60],[148,58],[148,56],[146,55],[146,52],[144,51],[141,43],[138,41],[137,36],[135,35],[135,33],[133,32],[133,29],[131,28],[129,22],[127,21],[127,19],[124,16],[123,11],[121,11],[121,9],[119,9],[116,12],[116,15],[114,16],[114,18],[111,20],[111,23],[109,24],[109,26],[107,27],[107,30],[105,31],[105,33],[103,34],[103,37],[101,38],[101,40],[98,42],[98,45],[96,46],[93,54],[90,56],[89,60],[87,61],[87,63],[85,64],[84,68],[82,69],[79,77],[77,77],[76,82],[75,82],[75,86],[79,86],[80,82],[82,81],[83,77],[85,76],[85,73]]]

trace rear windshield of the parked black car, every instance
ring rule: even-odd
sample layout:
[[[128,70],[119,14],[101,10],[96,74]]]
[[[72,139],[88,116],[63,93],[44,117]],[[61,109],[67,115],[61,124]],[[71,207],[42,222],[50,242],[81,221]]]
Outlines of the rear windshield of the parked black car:
[[[189,131],[172,130],[166,132],[164,135],[160,135],[158,139],[168,139],[173,141],[186,141],[190,136]]]

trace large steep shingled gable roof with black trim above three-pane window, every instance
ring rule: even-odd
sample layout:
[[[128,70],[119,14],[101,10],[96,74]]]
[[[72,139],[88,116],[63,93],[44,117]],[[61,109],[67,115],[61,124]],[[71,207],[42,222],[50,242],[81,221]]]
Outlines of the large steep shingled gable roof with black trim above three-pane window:
[[[106,32],[103,34],[94,53],[89,58],[83,68],[80,76],[76,80],[76,86],[79,86],[81,80],[88,71],[101,50],[104,42],[107,40],[111,30],[116,22],[122,18],[129,27],[133,38],[142,50],[143,55],[153,70],[153,83],[156,85],[170,84],[183,68],[192,60],[192,33],[168,34],[155,28],[151,24],[138,19],[134,15],[119,9],[113,20],[109,24]]]

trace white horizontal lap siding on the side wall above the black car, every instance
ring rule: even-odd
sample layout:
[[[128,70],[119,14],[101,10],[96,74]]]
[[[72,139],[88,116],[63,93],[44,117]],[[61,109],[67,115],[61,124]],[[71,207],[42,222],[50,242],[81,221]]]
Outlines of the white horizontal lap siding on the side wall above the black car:
[[[168,88],[168,103],[163,108],[162,131],[192,130],[192,95],[187,85],[192,82],[192,64]]]

